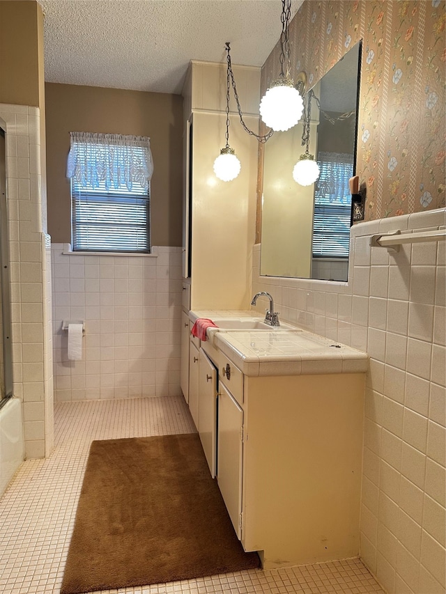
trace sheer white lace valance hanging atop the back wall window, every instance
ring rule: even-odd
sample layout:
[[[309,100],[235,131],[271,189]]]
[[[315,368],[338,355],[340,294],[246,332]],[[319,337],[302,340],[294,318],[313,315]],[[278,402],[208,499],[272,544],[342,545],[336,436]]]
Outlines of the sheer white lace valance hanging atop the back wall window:
[[[148,190],[153,174],[150,139],[146,136],[70,132],[67,177],[84,188],[118,189],[133,184]]]

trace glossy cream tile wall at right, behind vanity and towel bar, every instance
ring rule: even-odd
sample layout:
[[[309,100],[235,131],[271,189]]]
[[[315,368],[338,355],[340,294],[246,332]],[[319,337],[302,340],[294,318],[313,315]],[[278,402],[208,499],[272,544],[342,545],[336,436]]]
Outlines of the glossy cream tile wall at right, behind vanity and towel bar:
[[[388,253],[369,236],[445,226],[444,209],[355,226],[348,283],[261,277],[254,247],[253,292],[280,318],[370,354],[361,557],[390,594],[445,592],[446,258],[445,242]]]

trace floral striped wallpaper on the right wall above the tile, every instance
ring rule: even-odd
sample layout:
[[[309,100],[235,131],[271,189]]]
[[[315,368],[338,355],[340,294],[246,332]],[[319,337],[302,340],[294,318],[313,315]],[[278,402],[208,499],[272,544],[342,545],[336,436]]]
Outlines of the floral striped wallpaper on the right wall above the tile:
[[[356,173],[366,220],[445,206],[445,10],[445,0],[305,0],[290,24],[291,73],[304,70],[307,88],[362,39]],[[279,54],[277,43],[262,94]]]

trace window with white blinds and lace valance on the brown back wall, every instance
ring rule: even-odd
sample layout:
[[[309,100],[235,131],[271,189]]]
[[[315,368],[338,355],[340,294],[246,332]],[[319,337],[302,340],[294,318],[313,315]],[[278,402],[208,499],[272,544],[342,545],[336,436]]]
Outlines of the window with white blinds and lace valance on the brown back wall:
[[[150,141],[71,133],[72,250],[150,251]]]

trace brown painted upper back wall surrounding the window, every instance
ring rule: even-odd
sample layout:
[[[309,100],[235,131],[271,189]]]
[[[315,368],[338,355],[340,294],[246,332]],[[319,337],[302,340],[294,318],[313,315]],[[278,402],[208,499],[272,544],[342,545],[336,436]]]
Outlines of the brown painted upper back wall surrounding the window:
[[[151,138],[151,244],[181,245],[183,97],[67,84],[45,84],[48,232],[70,243],[69,132],[136,134]]]

